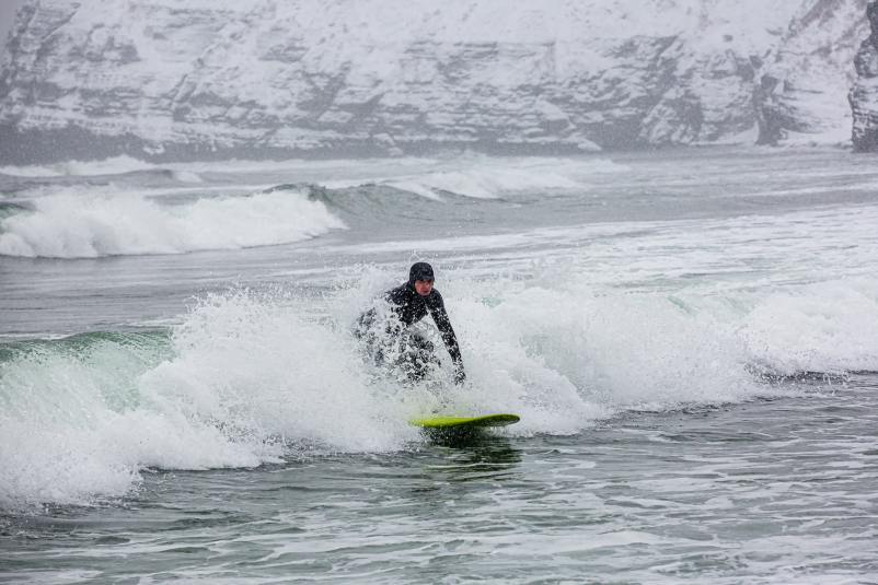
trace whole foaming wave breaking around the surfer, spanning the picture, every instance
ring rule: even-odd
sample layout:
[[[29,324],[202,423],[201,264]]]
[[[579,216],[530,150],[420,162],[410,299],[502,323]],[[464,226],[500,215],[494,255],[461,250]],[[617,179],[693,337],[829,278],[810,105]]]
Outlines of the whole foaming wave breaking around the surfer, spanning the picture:
[[[359,268],[319,301],[208,295],[170,334],[0,346],[0,506],[124,495],[150,467],[405,448],[419,441],[405,421],[434,409],[513,411],[522,421],[508,432],[568,434],[625,411],[800,391],[776,376],[878,371],[871,279],[698,304],[598,294],[559,270],[532,280],[446,271],[467,386],[400,385],[363,361],[350,332],[395,276]]]

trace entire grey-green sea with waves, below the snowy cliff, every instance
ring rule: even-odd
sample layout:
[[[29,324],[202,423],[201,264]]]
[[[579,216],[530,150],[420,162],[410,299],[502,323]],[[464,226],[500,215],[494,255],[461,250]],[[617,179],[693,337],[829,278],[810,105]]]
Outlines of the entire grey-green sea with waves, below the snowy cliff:
[[[2,167],[0,582],[878,582],[876,226],[829,149]],[[416,260],[463,387],[353,335]]]

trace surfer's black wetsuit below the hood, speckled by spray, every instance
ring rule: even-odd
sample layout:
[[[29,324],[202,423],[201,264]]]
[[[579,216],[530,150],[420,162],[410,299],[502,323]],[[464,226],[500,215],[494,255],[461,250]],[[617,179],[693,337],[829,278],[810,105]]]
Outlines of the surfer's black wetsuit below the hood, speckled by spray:
[[[442,301],[442,295],[439,294],[439,291],[432,289],[430,294],[425,296],[419,294],[415,290],[414,282],[409,281],[385,292],[383,297],[390,305],[393,314],[400,319],[400,325],[402,326],[389,327],[386,332],[390,335],[401,335],[403,332],[403,327],[408,327],[426,317],[428,313],[430,314],[432,320],[436,323],[436,327],[442,335],[442,341],[448,349],[448,353],[451,355],[451,360],[454,362],[454,379],[458,383],[463,382],[465,374],[463,371],[463,359],[461,358],[460,346],[458,344],[458,338],[454,335],[454,329],[451,327],[451,321],[449,320],[448,313],[446,312],[446,304]],[[359,337],[366,336],[366,331],[374,325],[374,308],[362,314],[359,320]],[[420,355],[414,358],[416,361],[423,362],[424,360],[429,360],[438,363],[438,360],[431,355],[432,343],[429,341],[409,336],[405,342],[409,346],[413,346],[417,354]],[[376,358],[377,361],[381,361],[383,359],[380,350],[377,352]],[[414,363],[412,365],[415,366],[415,375],[413,377],[423,377],[424,364]]]

